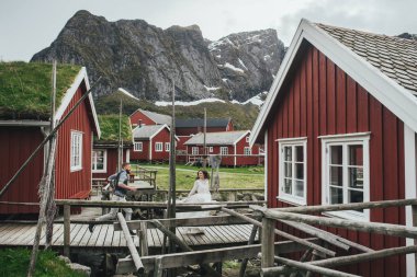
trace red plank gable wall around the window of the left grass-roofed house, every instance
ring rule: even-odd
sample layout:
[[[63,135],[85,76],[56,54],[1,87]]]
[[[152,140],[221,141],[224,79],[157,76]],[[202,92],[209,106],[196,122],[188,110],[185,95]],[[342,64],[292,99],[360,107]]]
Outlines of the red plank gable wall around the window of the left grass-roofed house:
[[[86,85],[82,83],[72,97],[67,111],[86,92]],[[91,188],[91,140],[92,140],[92,120],[90,119],[89,108],[86,102],[77,107],[58,132],[58,149],[56,158],[56,198],[65,199],[80,191]],[[71,130],[82,132],[82,170],[70,172],[70,140]]]

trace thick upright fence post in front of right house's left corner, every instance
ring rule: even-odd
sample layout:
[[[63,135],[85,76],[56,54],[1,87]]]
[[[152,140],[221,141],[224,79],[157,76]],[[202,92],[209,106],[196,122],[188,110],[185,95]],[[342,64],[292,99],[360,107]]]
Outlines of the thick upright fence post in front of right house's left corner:
[[[274,256],[274,220],[262,218],[261,267],[272,267]]]

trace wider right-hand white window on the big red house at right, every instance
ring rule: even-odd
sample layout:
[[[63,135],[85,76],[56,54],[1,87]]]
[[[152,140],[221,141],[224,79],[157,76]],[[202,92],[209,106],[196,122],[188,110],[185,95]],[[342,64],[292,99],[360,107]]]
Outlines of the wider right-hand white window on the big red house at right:
[[[369,201],[369,134],[322,137],[323,199],[325,205]],[[369,210],[329,215],[369,220]]]

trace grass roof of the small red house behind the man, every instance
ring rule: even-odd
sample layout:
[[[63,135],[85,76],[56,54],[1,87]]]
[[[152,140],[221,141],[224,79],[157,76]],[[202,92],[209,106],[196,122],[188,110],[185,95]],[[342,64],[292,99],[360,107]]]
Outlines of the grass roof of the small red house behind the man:
[[[99,115],[101,129],[100,140],[94,137],[97,143],[119,142],[119,115]],[[122,138],[124,143],[132,143],[131,122],[127,115],[122,115]]]

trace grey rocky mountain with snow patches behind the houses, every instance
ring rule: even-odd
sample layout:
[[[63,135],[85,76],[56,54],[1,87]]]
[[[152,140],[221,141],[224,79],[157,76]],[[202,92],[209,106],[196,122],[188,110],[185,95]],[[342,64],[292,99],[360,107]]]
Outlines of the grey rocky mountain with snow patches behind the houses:
[[[139,99],[169,100],[173,81],[178,100],[245,101],[269,90],[283,56],[274,30],[210,42],[196,25],[162,30],[143,20],[109,22],[78,11],[32,61],[86,66],[91,83],[103,77],[95,95],[125,88]]]

